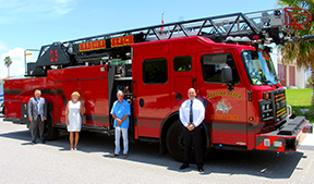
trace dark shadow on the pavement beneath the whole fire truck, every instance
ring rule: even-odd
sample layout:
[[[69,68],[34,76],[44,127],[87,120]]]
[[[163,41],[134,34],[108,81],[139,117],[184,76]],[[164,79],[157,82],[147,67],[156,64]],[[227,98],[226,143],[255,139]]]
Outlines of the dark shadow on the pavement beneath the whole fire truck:
[[[28,131],[0,134],[0,137],[20,139],[22,146],[31,145],[31,134]],[[59,147],[60,151],[69,151],[70,144],[68,134],[61,135],[57,140],[48,140],[47,145]],[[121,144],[123,145],[123,144]],[[141,163],[166,167],[168,170],[178,172],[196,171],[195,164],[190,164],[185,170],[179,170],[180,162],[176,161],[169,154],[159,155],[159,144],[130,143],[129,158],[120,156],[112,159],[124,159]],[[80,134],[78,151],[104,152],[102,157],[109,158],[113,154],[113,136],[106,134],[82,132]],[[269,151],[232,151],[213,149],[204,159],[204,175],[210,173],[224,174],[249,174],[268,179],[289,179],[301,159],[307,159],[303,152],[276,152]]]

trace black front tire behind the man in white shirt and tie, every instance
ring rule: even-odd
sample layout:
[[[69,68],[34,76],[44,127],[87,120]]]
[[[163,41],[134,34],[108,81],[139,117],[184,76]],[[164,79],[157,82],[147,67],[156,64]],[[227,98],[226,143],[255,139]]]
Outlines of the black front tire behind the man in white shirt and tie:
[[[204,127],[202,132],[203,137],[203,156],[204,158],[208,154],[209,149],[206,148],[207,143],[209,142],[208,138],[206,138],[204,133]],[[183,140],[183,125],[181,124],[180,120],[174,121],[171,126],[169,127],[167,132],[166,137],[166,144],[169,154],[177,160],[182,162],[184,158],[184,140]],[[194,156],[194,149],[192,148],[192,151],[190,154],[190,161],[194,162],[195,156]]]

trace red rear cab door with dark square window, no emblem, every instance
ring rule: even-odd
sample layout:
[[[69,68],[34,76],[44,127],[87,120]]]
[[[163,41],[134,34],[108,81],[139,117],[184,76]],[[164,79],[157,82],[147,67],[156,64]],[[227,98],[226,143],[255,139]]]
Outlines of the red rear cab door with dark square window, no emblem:
[[[133,45],[134,138],[159,138],[170,111],[168,44]]]

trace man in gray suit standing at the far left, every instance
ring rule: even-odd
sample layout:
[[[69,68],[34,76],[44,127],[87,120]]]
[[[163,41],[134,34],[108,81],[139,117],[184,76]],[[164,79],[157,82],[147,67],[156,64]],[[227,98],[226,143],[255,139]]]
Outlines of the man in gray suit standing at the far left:
[[[40,97],[41,91],[35,90],[35,97],[32,97],[27,106],[28,120],[31,121],[32,143],[36,144],[37,130],[39,131],[39,138],[45,144],[44,138],[44,121],[47,120],[47,103],[45,98]]]

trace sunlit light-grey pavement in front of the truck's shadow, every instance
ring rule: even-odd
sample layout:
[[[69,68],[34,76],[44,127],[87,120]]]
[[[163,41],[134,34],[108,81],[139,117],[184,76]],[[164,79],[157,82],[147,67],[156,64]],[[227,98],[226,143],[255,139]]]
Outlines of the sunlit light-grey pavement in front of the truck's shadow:
[[[295,152],[213,150],[204,173],[179,170],[158,144],[130,143],[129,158],[111,158],[113,137],[81,133],[77,151],[68,135],[31,144],[25,125],[0,118],[0,183],[314,183],[314,135]]]

